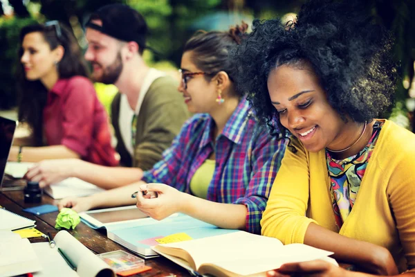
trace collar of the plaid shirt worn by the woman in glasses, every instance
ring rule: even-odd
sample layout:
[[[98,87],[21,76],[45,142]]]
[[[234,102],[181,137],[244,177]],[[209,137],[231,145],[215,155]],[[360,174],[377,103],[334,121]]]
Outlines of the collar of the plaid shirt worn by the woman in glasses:
[[[235,109],[234,113],[228,119],[223,131],[221,133],[222,136],[225,136],[233,143],[241,143],[241,139],[243,136],[243,132],[245,132],[245,125],[248,122],[248,116],[250,115],[250,106],[249,102],[246,99],[241,100],[239,102],[237,109]],[[200,143],[200,147],[204,147],[210,141],[212,141],[212,127],[213,127],[213,120],[211,116],[205,121],[206,128],[202,134],[202,139]]]

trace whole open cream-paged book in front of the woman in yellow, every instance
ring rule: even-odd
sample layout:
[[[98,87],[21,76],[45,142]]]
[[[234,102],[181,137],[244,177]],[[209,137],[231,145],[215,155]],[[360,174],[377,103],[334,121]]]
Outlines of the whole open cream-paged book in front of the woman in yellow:
[[[216,277],[266,276],[266,271],[287,262],[327,259],[333,254],[305,244],[283,245],[276,238],[244,231],[151,248],[190,271]]]

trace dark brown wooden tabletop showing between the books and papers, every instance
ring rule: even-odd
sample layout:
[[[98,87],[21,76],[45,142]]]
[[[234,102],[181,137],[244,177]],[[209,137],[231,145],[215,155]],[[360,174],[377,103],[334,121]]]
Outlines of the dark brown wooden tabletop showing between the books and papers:
[[[42,197],[42,203],[40,204],[26,204],[24,203],[23,191],[22,190],[10,190],[3,191],[0,193],[0,206],[3,206],[8,211],[17,213],[18,215],[23,215],[24,217],[30,218],[30,220],[36,220],[36,229],[42,233],[48,233],[55,237],[58,230],[55,227],[55,220],[58,212],[47,213],[45,215],[33,215],[31,213],[25,213],[21,211],[23,208],[29,208],[33,206],[39,206],[41,204],[57,204],[57,200],[52,199],[48,195]],[[93,251],[93,253],[105,253],[115,250],[124,250],[128,253],[131,253],[128,249],[122,247],[120,244],[113,242],[107,238],[107,235],[100,233],[100,231],[91,229],[89,226],[86,226],[81,222],[75,230],[69,230],[69,233],[73,235],[77,240],[84,244],[88,249]],[[45,238],[31,238],[30,242],[47,242]],[[134,276],[191,276],[190,273],[176,265],[174,262],[167,260],[163,257],[151,258],[145,260],[145,265],[152,267],[150,271],[143,272],[142,274],[136,274]]]

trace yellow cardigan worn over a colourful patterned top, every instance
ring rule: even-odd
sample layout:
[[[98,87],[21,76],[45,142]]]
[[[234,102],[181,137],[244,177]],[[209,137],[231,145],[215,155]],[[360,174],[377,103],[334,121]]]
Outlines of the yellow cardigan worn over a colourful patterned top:
[[[291,139],[261,220],[262,234],[303,243],[315,222],[340,235],[386,247],[400,272],[415,267],[415,134],[385,120],[342,228],[335,225],[325,151]],[[304,216],[306,215],[306,216]],[[359,249],[356,249],[359,251]]]

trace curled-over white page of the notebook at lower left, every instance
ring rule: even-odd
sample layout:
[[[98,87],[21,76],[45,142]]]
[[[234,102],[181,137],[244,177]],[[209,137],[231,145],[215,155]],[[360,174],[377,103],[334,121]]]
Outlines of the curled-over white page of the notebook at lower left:
[[[103,260],[95,256],[84,244],[67,231],[59,231],[54,238],[56,247],[59,247],[73,261],[77,267],[77,274],[80,277],[100,276],[115,277],[116,274]]]

